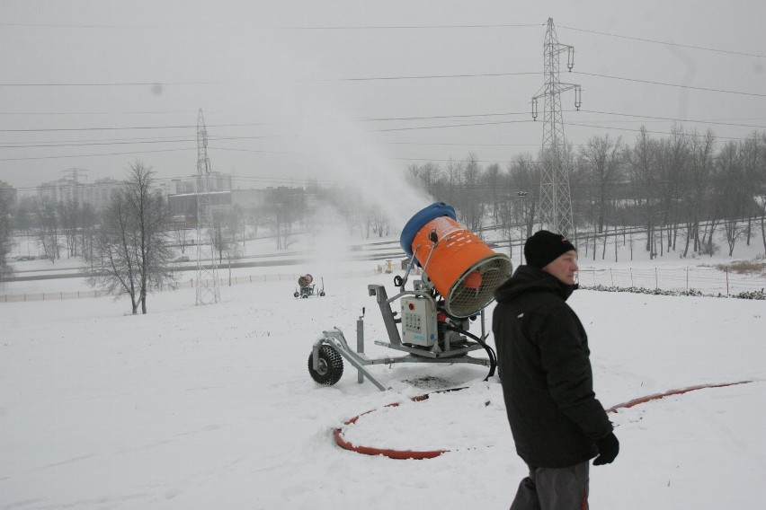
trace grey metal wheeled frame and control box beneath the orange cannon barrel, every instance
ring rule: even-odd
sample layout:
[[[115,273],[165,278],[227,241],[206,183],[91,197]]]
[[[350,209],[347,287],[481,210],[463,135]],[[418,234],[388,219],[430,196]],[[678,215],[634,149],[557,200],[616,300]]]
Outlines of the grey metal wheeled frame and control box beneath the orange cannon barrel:
[[[437,321],[439,304],[432,293],[423,287],[423,282],[415,282],[414,291],[403,291],[391,298],[388,298],[384,286],[369,285],[367,288],[369,294],[376,298],[389,339],[388,342],[376,340],[375,344],[405,351],[408,354],[380,358],[366,356],[364,353],[364,308],[362,308],[361,316],[356,322],[356,351],[349,346],[343,331],[337,327],[323,331],[322,338],[316,340],[308,356],[308,373],[315,382],[330,386],[340,381],[343,376],[343,359],[357,369],[357,382],[364,382],[366,377],[380,391],[386,391],[389,388],[370,373],[366,368],[368,365],[468,363],[489,367],[487,378],[494,375],[497,364],[494,350],[485,343],[488,333],[485,331],[484,310],[479,313],[482,336],[477,337],[468,332],[470,321],[468,318],[462,320],[449,318],[441,313],[441,321]],[[403,306],[400,318],[396,318],[396,312],[391,308],[391,303],[396,300],[400,300]],[[403,322],[405,323],[402,326],[404,340],[398,329],[398,325]],[[431,324],[424,324],[424,322],[431,322]],[[416,332],[423,329],[431,331],[428,335]],[[469,352],[479,349],[485,349],[488,357],[468,356]]]

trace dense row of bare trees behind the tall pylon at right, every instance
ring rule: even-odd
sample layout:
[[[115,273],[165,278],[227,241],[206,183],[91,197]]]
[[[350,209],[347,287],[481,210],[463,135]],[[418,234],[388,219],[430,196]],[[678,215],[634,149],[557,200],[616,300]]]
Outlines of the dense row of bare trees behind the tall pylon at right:
[[[766,251],[766,133],[719,142],[711,131],[675,127],[653,138],[641,128],[633,145],[593,136],[564,152],[577,235],[638,227],[652,257],[676,250],[687,256],[714,251],[713,233],[723,228],[731,255],[760,226]],[[450,202],[468,228],[491,224],[523,239],[539,221],[539,166],[522,154],[504,171],[496,163],[483,168],[468,154],[443,169],[424,163],[408,173],[433,198]]]

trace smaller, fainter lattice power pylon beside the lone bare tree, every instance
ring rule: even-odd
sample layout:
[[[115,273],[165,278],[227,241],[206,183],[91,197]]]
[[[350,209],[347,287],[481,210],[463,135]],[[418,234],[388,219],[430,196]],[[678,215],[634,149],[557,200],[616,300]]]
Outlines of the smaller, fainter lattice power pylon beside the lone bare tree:
[[[220,300],[209,178],[208,129],[200,109],[197,116],[197,304]]]

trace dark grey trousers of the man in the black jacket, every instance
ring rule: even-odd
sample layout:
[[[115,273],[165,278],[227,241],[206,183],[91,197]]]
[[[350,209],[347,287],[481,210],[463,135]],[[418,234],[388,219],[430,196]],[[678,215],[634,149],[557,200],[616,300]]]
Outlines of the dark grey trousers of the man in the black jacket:
[[[529,466],[511,510],[588,510],[589,462],[568,468]]]

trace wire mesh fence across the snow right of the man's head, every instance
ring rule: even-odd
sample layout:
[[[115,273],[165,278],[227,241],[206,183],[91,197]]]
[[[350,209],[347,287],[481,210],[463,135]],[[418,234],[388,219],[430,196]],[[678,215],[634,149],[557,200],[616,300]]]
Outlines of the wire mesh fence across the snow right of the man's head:
[[[766,275],[736,273],[729,268],[581,269],[581,286],[697,291],[706,295],[764,292]]]

